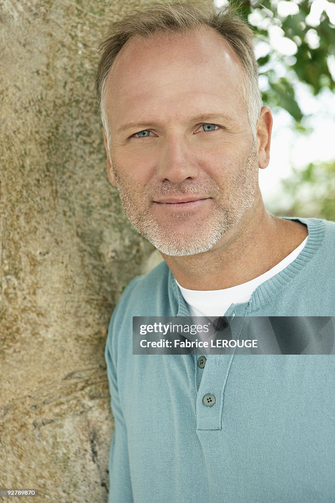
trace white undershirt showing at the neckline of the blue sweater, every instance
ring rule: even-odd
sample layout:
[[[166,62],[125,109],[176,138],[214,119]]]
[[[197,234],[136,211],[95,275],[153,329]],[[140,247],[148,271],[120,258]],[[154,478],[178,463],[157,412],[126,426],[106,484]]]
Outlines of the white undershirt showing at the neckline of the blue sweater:
[[[307,236],[308,237],[308,236]],[[307,237],[279,264],[261,276],[241,285],[224,288],[223,290],[188,290],[178,282],[182,295],[189,307],[191,316],[223,316],[231,304],[246,302],[256,288],[264,281],[285,269],[299,255],[306,244]]]

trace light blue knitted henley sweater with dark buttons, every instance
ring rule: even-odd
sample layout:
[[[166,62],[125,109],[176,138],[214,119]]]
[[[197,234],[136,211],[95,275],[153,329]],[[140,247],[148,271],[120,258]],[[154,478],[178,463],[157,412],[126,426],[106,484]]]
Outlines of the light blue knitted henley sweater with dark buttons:
[[[218,315],[335,315],[335,223],[299,220],[297,259]],[[165,263],[113,313],[109,502],[333,503],[335,356],[209,355],[199,368],[199,355],[132,355],[132,316],[188,314]]]

